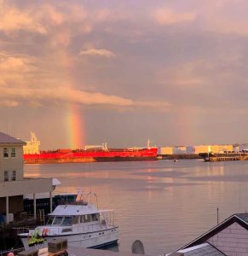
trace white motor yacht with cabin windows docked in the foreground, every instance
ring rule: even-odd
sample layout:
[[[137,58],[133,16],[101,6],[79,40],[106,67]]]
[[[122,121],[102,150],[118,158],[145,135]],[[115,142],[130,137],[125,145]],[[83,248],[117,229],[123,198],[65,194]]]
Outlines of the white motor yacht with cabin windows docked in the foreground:
[[[48,247],[49,240],[54,238],[67,239],[71,247],[100,248],[118,243],[118,226],[114,224],[112,210],[98,210],[94,204],[80,200],[57,206],[49,214],[47,224],[19,236],[26,249],[37,244]]]

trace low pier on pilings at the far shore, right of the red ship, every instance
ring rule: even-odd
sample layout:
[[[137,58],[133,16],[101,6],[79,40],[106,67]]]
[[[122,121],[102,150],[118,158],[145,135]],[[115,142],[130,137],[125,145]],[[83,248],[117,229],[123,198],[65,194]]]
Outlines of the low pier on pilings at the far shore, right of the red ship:
[[[200,153],[205,162],[248,160],[247,152],[225,152],[225,153]]]

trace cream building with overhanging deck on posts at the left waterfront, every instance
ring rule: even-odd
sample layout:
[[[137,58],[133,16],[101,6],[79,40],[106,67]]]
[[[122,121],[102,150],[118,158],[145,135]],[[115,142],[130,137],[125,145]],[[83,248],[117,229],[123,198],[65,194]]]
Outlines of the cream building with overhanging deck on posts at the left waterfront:
[[[16,212],[23,211],[23,195],[32,194],[36,218],[37,193],[49,192],[50,211],[52,191],[59,181],[54,178],[25,178],[23,175],[23,146],[26,143],[0,132],[0,213],[6,222]],[[11,214],[10,214],[11,213]]]

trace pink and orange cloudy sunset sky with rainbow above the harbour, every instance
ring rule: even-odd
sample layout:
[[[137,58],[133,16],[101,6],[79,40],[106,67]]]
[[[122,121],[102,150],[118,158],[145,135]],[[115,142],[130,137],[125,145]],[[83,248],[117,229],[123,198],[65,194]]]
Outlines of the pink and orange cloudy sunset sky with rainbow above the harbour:
[[[41,149],[247,143],[245,0],[0,0],[0,131]]]

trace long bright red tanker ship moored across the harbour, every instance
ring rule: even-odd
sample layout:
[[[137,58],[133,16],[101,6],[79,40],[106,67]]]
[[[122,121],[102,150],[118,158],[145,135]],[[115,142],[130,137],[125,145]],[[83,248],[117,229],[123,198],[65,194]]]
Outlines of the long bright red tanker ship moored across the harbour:
[[[33,143],[39,143],[36,137]],[[32,143],[29,143],[32,145]],[[32,146],[31,146],[32,147]],[[37,148],[37,147],[32,147]],[[132,161],[132,160],[157,160],[158,148],[107,148],[107,143],[101,146],[85,146],[80,149],[57,149],[53,151],[32,152],[24,148],[24,160],[26,164],[45,163],[80,163],[92,161]]]

